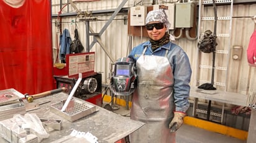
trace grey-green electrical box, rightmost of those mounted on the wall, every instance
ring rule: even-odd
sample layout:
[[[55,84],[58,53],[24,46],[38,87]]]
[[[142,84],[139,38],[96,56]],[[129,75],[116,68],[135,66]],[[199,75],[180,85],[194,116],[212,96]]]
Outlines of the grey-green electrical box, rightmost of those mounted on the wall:
[[[191,28],[194,22],[193,2],[177,3],[175,12],[176,28]]]

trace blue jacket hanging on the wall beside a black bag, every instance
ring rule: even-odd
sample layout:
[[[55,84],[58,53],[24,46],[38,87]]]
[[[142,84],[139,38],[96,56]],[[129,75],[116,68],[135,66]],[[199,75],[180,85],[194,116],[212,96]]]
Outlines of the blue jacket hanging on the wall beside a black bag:
[[[65,28],[60,35],[60,60],[62,63],[66,63],[66,54],[70,54],[71,41],[70,32]]]

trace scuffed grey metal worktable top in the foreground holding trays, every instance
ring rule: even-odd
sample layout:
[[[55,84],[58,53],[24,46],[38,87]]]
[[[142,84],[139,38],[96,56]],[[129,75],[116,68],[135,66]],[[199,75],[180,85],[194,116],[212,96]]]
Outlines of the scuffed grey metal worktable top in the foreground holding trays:
[[[76,121],[70,122],[50,111],[50,106],[53,103],[66,100],[67,97],[67,94],[63,96],[63,93],[56,93],[49,95],[48,97],[38,98],[32,103],[46,103],[40,105],[40,108],[37,110],[27,111],[27,113],[36,113],[40,119],[62,120],[62,129],[60,131],[55,130],[48,132],[50,136],[47,139],[43,139],[41,141],[42,143],[57,141],[58,139],[69,136],[71,131],[74,129],[81,132],[90,132],[93,134],[93,136],[98,138],[98,142],[114,143],[120,139],[123,139],[144,125],[142,122],[134,121],[130,118],[117,115],[116,113],[101,108],[97,105],[95,105],[97,108],[96,112],[86,115],[85,117]],[[24,100],[24,102],[25,104],[30,104],[26,100]],[[0,137],[0,142],[7,141]]]

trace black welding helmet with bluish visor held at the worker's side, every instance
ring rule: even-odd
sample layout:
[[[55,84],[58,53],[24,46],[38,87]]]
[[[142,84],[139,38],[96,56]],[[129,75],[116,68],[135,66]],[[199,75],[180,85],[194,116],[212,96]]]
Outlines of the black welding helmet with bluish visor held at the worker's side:
[[[130,95],[137,86],[136,78],[134,61],[127,57],[117,59],[111,76],[110,89],[114,95]]]

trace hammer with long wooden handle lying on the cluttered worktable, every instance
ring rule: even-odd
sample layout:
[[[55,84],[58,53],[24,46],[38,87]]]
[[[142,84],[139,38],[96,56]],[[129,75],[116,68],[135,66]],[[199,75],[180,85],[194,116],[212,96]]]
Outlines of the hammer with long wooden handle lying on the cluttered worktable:
[[[36,98],[46,97],[46,96],[51,95],[53,93],[65,92],[65,91],[66,91],[66,88],[62,87],[62,88],[59,88],[59,89],[53,89],[53,90],[49,90],[47,92],[38,93],[38,94],[35,94],[35,95],[29,95],[28,93],[25,93],[25,98],[27,99],[27,102],[30,103],[30,102],[33,102],[33,100],[36,99]]]

